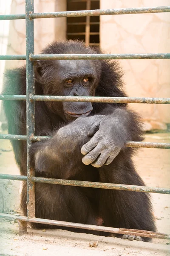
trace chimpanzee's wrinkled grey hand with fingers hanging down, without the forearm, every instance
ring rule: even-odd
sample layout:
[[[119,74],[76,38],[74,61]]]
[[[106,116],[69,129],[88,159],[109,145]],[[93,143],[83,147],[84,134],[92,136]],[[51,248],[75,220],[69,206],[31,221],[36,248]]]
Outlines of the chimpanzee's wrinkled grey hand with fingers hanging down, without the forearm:
[[[94,167],[110,164],[124,145],[120,129],[119,119],[112,115],[96,122],[88,132],[93,137],[81,148],[81,153],[85,155],[82,162]]]

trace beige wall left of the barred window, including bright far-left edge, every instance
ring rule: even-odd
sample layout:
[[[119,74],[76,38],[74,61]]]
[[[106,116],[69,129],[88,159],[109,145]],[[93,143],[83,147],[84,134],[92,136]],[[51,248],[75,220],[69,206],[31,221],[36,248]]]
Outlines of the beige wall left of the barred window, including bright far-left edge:
[[[11,11],[10,9],[11,2]],[[25,0],[10,0],[0,14],[23,14],[25,10]],[[2,2],[1,2],[2,3]],[[8,8],[7,8],[8,7]],[[66,11],[66,0],[36,0],[34,1],[34,12],[61,12]],[[2,31],[1,31],[2,30]],[[8,32],[9,30],[9,32]],[[3,37],[0,54],[26,54],[26,21],[25,20],[5,20],[3,28],[0,29]],[[48,43],[53,40],[64,40],[66,38],[66,18],[50,18],[34,20],[34,42],[35,53],[40,53]],[[1,61],[0,65],[0,93],[3,88],[4,70],[19,67],[26,61]],[[4,121],[5,116],[0,102],[0,121]]]

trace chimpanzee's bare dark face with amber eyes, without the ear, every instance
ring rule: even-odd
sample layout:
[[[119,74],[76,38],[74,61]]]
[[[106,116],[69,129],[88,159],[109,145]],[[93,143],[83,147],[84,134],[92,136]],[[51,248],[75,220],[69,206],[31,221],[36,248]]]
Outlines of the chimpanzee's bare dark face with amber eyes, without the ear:
[[[96,71],[90,61],[61,60],[57,72],[57,84],[65,96],[94,96]],[[63,102],[65,117],[88,116],[93,110],[91,102]]]

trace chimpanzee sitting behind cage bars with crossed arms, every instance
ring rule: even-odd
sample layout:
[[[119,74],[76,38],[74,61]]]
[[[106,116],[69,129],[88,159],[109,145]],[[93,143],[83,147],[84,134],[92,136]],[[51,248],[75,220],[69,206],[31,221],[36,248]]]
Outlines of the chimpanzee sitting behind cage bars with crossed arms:
[[[42,51],[74,53],[101,50],[86,47],[81,41],[59,41]],[[116,61],[41,60],[35,61],[34,72],[36,95],[127,96]],[[26,94],[25,66],[7,70],[5,76],[4,94]],[[9,134],[26,135],[26,102],[4,101],[4,109]],[[124,103],[36,101],[35,135],[52,138],[31,145],[35,175],[145,186],[133,165],[135,149],[124,145],[143,140],[139,120]],[[12,145],[20,173],[26,175],[26,142],[13,140]],[[150,196],[144,192],[36,183],[35,198],[37,218],[156,231]],[[26,215],[26,182],[21,208]],[[33,227],[56,228],[45,224]],[[149,241],[127,235],[123,238]]]

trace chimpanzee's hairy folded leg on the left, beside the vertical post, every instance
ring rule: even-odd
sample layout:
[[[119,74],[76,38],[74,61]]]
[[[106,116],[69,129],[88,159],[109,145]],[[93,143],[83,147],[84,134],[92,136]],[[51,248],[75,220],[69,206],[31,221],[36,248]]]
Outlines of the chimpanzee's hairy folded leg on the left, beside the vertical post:
[[[91,194],[95,194],[95,189],[89,189]],[[94,201],[96,201],[96,199],[94,199]],[[98,212],[96,211],[94,204],[89,201],[88,197],[79,187],[36,183],[35,205],[36,218],[51,219],[57,221],[70,221],[93,225],[100,224],[97,215]],[[21,208],[23,214],[26,216],[26,183],[23,184]],[[39,223],[31,223],[31,227],[59,228],[74,232],[84,232],[95,235],[100,234],[100,232],[93,230],[86,231],[71,227],[61,227]]]

